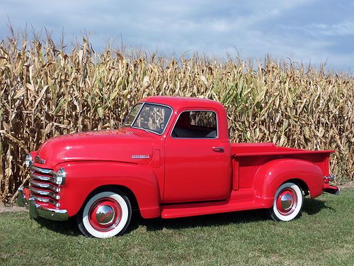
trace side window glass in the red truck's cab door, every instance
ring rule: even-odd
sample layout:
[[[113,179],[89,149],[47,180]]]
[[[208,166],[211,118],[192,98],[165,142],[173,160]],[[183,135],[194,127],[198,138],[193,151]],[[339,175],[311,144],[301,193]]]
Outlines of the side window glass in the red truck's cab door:
[[[173,138],[217,138],[214,111],[183,111],[172,131]]]

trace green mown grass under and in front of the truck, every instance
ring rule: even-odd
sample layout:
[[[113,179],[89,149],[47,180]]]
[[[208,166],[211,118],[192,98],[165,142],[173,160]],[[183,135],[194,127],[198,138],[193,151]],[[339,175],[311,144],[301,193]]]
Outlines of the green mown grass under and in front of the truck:
[[[74,221],[0,214],[1,265],[354,265],[354,191],[306,199],[302,217],[263,211],[143,220],[121,237],[85,238]]]

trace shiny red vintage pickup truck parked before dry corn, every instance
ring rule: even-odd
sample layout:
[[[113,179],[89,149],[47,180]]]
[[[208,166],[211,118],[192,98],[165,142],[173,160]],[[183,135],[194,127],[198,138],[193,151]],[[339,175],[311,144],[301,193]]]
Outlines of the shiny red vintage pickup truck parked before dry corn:
[[[331,153],[232,144],[222,104],[152,96],[118,130],[50,138],[28,154],[29,187],[18,189],[18,204],[33,218],[76,216],[96,238],[124,233],[132,209],[143,218],[268,209],[275,221],[290,221],[304,196],[339,193],[329,184]]]

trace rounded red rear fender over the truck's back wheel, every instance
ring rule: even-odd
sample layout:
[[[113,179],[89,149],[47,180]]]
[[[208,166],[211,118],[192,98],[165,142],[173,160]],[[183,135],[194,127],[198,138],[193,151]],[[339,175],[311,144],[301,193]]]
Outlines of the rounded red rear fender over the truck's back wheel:
[[[256,201],[270,208],[277,189],[290,179],[299,179],[307,184],[312,198],[323,192],[323,173],[319,166],[306,160],[278,159],[265,163],[256,172],[253,179]]]

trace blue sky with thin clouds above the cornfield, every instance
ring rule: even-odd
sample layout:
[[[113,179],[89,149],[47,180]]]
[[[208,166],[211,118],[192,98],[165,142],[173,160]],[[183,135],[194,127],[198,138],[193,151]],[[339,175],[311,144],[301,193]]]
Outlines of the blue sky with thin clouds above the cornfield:
[[[95,50],[110,42],[164,55],[240,55],[354,72],[353,0],[0,0],[0,38],[44,28],[70,43],[85,31]],[[44,34],[43,34],[44,35]]]

